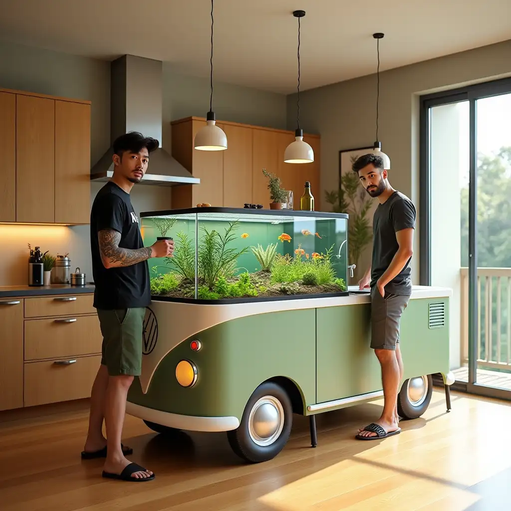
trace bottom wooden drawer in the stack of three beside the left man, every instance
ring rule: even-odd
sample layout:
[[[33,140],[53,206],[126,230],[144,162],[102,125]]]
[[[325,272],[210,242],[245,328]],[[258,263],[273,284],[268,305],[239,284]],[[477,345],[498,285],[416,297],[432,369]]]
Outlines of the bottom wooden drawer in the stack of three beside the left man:
[[[24,406],[89,398],[100,364],[101,355],[25,363]]]

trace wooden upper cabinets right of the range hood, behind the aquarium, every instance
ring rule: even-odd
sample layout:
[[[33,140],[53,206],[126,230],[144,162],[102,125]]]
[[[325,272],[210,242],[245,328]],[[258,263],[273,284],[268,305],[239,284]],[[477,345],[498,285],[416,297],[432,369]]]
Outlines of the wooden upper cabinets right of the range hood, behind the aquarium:
[[[172,207],[197,204],[243,207],[245,203],[270,207],[268,178],[263,169],[281,178],[282,187],[293,191],[294,209],[300,208],[305,182],[310,181],[315,210],[320,210],[319,135],[304,135],[314,150],[311,164],[286,164],[284,151],[294,141],[294,131],[262,128],[219,121],[227,135],[225,151],[197,151],[193,147],[197,130],[205,126],[202,118],[191,117],[172,123],[172,155],[200,184],[172,188]]]

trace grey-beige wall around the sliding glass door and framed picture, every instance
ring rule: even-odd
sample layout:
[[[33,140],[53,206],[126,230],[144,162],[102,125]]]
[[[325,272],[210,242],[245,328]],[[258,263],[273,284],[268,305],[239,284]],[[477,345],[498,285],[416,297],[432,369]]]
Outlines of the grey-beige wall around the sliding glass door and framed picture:
[[[380,48],[380,59],[385,53]],[[389,181],[419,211],[419,96],[468,83],[511,76],[511,40],[380,73],[379,139],[391,161]],[[337,190],[339,150],[371,146],[376,131],[376,75],[300,92],[300,125],[321,134],[321,195]],[[296,95],[287,97],[288,129]],[[413,280],[419,281],[419,229]],[[370,247],[364,254],[365,267]]]

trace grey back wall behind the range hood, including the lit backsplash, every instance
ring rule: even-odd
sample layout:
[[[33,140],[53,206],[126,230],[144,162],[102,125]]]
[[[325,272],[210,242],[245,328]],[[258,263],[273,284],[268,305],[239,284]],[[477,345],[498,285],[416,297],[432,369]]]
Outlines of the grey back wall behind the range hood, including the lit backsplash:
[[[26,90],[68,98],[90,100],[91,105],[91,165],[104,154],[110,144],[110,64],[101,60],[77,57],[39,48],[0,41],[0,88]],[[180,76],[164,63],[162,145],[171,149],[170,121],[197,115],[205,117],[209,109],[209,79]],[[217,119],[285,128],[286,97],[247,87],[215,83],[214,109]],[[91,200],[100,184],[91,183]],[[132,202],[137,212],[168,208],[170,189],[166,187],[135,187]],[[24,258],[25,237],[35,239],[34,231],[26,236],[14,234],[18,226],[6,225],[0,230],[0,245],[4,251],[0,285],[26,284]],[[69,233],[51,229],[47,235],[37,235],[37,243],[52,250],[69,251],[73,266],[92,278],[88,226],[61,227]],[[25,231],[24,231],[25,232]],[[19,234],[19,233],[18,233]],[[32,241],[34,244],[35,241]],[[73,268],[74,269],[74,268]]]

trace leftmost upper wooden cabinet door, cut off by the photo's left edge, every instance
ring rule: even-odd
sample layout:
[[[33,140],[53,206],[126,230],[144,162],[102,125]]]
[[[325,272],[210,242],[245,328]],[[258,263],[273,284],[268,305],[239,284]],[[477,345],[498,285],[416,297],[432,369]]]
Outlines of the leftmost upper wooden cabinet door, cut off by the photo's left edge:
[[[0,140],[3,172],[0,180],[0,222],[16,221],[16,95],[0,92]]]

